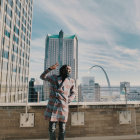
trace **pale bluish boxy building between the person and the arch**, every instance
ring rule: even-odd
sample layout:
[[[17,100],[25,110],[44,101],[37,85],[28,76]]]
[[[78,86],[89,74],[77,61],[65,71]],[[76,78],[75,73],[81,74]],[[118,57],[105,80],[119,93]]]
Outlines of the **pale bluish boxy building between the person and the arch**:
[[[82,78],[81,84],[81,101],[93,102],[95,101],[94,93],[94,77],[85,76]]]

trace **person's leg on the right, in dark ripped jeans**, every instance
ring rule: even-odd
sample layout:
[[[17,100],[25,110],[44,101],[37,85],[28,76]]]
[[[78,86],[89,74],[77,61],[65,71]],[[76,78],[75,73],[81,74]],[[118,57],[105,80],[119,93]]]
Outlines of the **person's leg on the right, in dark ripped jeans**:
[[[66,123],[65,122],[59,122],[59,137],[58,137],[58,140],[64,140],[65,129],[66,129]]]

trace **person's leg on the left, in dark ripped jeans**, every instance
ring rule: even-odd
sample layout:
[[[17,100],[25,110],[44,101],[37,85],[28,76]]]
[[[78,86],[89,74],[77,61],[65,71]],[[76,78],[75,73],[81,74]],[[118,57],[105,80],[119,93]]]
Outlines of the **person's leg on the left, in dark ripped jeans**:
[[[49,138],[50,140],[56,140],[55,130],[57,122],[49,122]]]

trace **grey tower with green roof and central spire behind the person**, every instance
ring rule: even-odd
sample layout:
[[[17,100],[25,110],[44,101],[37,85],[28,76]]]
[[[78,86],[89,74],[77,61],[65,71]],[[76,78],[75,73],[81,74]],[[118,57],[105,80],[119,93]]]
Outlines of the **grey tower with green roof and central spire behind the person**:
[[[72,68],[71,77],[75,79],[77,85],[78,79],[78,39],[76,35],[65,35],[61,30],[58,35],[47,35],[45,44],[44,69],[59,63],[56,70],[49,74],[59,74],[59,68],[68,64]],[[48,99],[49,83],[44,82],[44,98]],[[77,97],[77,96],[76,96]],[[78,97],[77,99],[78,100]]]

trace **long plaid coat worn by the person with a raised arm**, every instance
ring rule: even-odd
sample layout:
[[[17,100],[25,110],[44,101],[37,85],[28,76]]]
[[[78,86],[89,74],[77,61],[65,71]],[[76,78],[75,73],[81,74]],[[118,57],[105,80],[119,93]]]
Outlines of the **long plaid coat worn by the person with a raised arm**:
[[[47,70],[47,73],[50,70]],[[68,77],[62,82],[62,77],[57,75],[46,76],[45,81],[50,82],[50,95],[45,119],[50,121],[67,122],[68,103],[75,98],[75,81]]]

